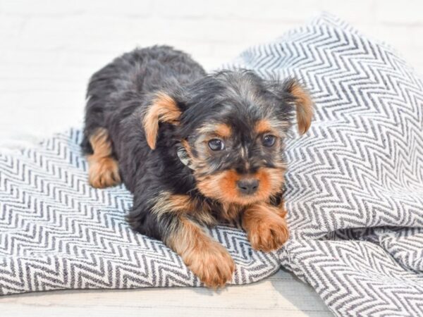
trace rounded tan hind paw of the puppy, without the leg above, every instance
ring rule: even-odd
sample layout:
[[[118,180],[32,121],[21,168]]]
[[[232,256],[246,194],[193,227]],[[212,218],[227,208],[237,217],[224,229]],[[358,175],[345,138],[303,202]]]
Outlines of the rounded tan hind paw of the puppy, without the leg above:
[[[121,183],[118,162],[111,157],[89,159],[90,170],[88,180],[95,188],[106,188]]]

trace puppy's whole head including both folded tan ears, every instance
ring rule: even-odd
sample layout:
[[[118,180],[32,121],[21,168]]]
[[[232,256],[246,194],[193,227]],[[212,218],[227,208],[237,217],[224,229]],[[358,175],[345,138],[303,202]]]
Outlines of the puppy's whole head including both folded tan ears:
[[[144,127],[154,149],[159,122],[175,125],[197,189],[223,204],[248,205],[281,192],[284,140],[295,113],[303,134],[312,99],[297,80],[225,70],[178,93],[156,94]]]

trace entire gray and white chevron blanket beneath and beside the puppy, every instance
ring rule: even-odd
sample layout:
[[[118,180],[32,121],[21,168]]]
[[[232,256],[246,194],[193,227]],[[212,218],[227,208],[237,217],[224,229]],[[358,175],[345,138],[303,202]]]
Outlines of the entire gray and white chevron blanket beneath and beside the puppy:
[[[233,284],[280,266],[338,316],[423,316],[423,83],[395,51],[330,15],[248,49],[231,67],[295,75],[316,101],[287,147],[291,239],[254,251],[210,233],[236,262]],[[180,258],[125,222],[124,187],[93,189],[79,130],[0,153],[0,294],[199,286]]]

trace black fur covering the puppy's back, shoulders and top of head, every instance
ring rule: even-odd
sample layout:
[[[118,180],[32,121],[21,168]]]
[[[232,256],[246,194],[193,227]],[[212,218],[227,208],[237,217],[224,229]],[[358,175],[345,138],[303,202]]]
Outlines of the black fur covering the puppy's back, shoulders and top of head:
[[[263,166],[272,168],[276,158],[283,161],[283,146],[264,149],[255,139],[252,126],[264,117],[290,122],[294,110],[294,97],[288,92],[291,84],[265,81],[248,70],[207,75],[190,56],[168,46],[135,49],[92,76],[82,149],[91,154],[90,135],[97,128],[109,131],[121,178],[134,194],[130,224],[142,234],[164,239],[174,218],[166,213],[159,219],[151,212],[154,197],[171,192],[209,199],[197,190],[192,170],[176,154],[180,140],[187,140],[195,151],[198,127],[228,123],[234,131],[230,150],[228,147],[228,151],[207,159],[209,173],[230,168],[253,173]],[[158,91],[177,101],[182,116],[180,125],[160,125],[157,148],[152,150],[145,139],[142,118]],[[283,132],[288,126],[284,125]],[[240,155],[242,147],[248,150],[249,168]],[[271,199],[278,204],[280,193]],[[218,217],[219,210],[215,213]]]

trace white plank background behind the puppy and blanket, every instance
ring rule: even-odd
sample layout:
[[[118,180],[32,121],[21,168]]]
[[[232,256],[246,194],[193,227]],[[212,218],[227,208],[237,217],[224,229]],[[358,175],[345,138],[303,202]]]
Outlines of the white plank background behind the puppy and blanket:
[[[211,70],[322,10],[423,73],[423,0],[0,0],[0,144],[80,125],[90,74],[135,46],[171,44]]]

